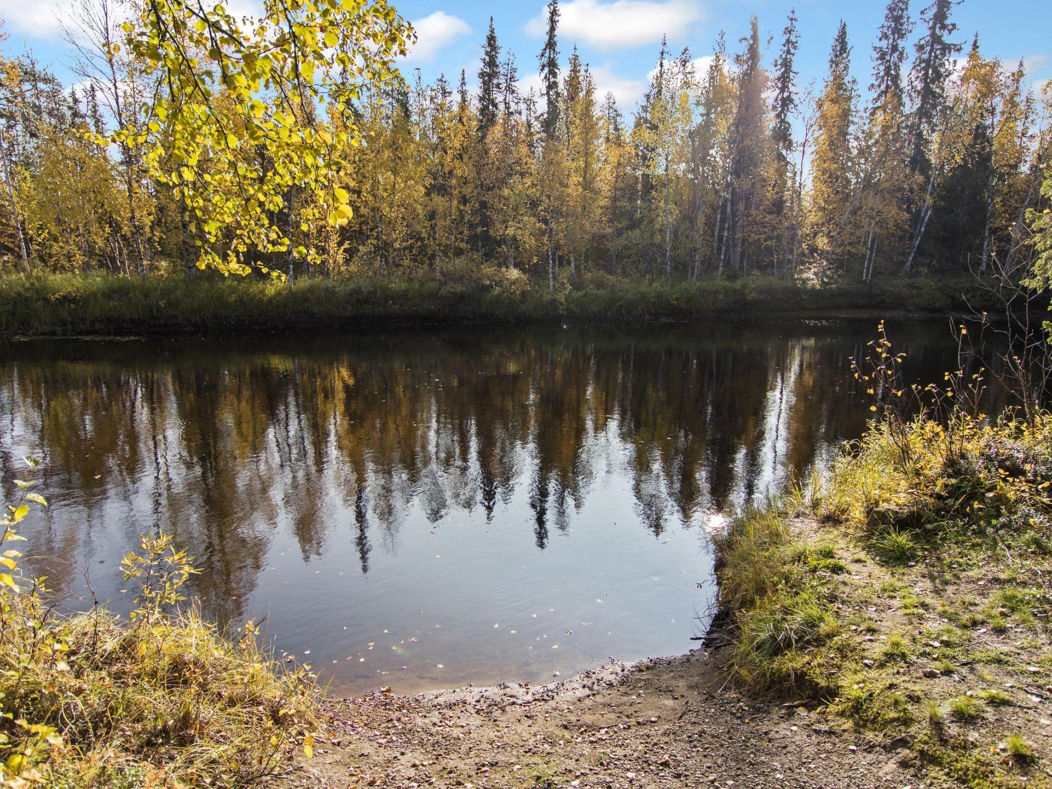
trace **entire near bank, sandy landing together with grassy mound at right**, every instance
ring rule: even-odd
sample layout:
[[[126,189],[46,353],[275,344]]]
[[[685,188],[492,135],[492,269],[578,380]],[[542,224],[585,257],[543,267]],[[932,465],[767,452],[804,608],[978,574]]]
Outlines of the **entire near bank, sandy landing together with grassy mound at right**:
[[[702,649],[328,701],[281,786],[1052,786],[1050,439],[1043,416],[889,412],[716,538]]]

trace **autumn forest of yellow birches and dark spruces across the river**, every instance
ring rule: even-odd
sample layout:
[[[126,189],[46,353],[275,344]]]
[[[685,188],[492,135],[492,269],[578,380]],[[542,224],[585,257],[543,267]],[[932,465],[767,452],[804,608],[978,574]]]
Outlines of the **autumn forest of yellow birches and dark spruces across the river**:
[[[741,41],[721,35],[711,58],[663,44],[634,109],[598,95],[558,0],[537,56],[517,60],[490,20],[478,74],[432,84],[399,73],[414,34],[385,3],[358,13],[357,41],[326,26],[338,3],[307,4],[311,67],[292,56],[280,78],[252,72],[280,43],[278,17],[238,38],[251,20],[222,6],[168,2],[162,26],[121,21],[116,0],[78,3],[77,85],[32,53],[0,64],[8,271],[495,271],[550,288],[962,276],[1037,254],[1052,94],[969,41],[952,0],[918,14],[890,0],[872,53],[844,23],[804,42],[795,14],[773,40],[755,18]],[[367,54],[348,77],[350,57],[326,52],[351,45]],[[798,84],[802,45],[829,47],[821,84]],[[523,93],[534,67],[542,89]]]

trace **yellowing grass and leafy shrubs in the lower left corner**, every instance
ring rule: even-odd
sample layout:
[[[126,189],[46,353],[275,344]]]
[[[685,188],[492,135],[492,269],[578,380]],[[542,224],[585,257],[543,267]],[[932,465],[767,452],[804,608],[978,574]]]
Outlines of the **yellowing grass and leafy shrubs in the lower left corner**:
[[[170,537],[143,538],[122,563],[138,587],[130,622],[56,613],[14,547],[46,502],[17,485],[0,523],[0,787],[239,787],[309,753],[309,667],[272,660],[250,622],[228,639],[196,606],[180,610],[194,570]]]

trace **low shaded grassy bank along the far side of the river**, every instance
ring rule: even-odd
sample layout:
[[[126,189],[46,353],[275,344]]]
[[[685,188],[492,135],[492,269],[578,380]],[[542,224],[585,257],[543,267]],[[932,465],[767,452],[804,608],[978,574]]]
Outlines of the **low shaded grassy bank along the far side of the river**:
[[[298,281],[7,275],[0,336],[184,333],[391,324],[691,321],[705,318],[997,313],[978,280],[895,277],[818,286],[772,277],[664,283],[588,277],[530,283],[494,270],[460,280]]]

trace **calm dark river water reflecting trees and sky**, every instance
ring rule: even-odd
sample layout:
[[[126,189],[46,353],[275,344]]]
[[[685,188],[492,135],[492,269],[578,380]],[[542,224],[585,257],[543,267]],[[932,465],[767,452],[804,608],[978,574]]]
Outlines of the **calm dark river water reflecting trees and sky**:
[[[52,585],[162,527],[209,615],[268,616],[338,688],[539,681],[689,647],[704,526],[828,463],[868,414],[872,322],[0,345],[0,481]],[[892,326],[907,376],[945,323]],[[699,587],[699,584],[702,587]],[[307,653],[309,650],[309,654]]]

